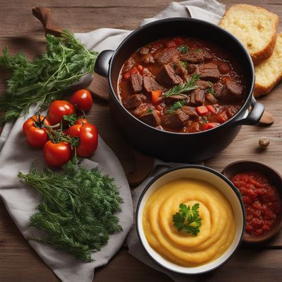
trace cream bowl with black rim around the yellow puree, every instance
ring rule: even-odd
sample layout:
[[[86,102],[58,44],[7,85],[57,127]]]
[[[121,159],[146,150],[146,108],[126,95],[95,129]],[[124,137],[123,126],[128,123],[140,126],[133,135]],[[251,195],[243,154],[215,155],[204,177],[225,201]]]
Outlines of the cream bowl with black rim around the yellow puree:
[[[142,226],[142,216],[145,204],[150,195],[152,195],[152,193],[157,190],[157,188],[159,188],[161,185],[164,185],[165,183],[179,178],[194,178],[199,180],[205,180],[208,183],[212,183],[223,193],[223,195],[226,196],[233,209],[236,222],[236,231],[233,243],[230,245],[230,247],[228,247],[226,252],[221,255],[221,257],[214,260],[213,262],[209,262],[208,264],[195,267],[185,267],[180,266],[178,264],[174,264],[173,262],[168,261],[161,255],[159,255],[159,253],[156,252],[147,242],[145,232]],[[228,178],[223,176],[221,173],[214,171],[212,168],[208,168],[206,166],[180,166],[178,168],[169,169],[168,171],[165,171],[164,173],[160,173],[159,175],[155,176],[146,186],[145,190],[143,190],[142,195],[140,196],[139,202],[137,204],[136,228],[137,234],[140,238],[143,247],[145,248],[148,255],[152,257],[155,262],[157,262],[157,264],[163,266],[165,269],[169,269],[180,274],[202,274],[208,271],[212,271],[226,263],[228,259],[230,259],[233,255],[233,252],[235,252],[235,250],[240,245],[240,242],[243,238],[243,232],[245,230],[244,204],[241,200],[240,192],[237,190],[237,188],[235,188],[231,181],[228,180]]]

